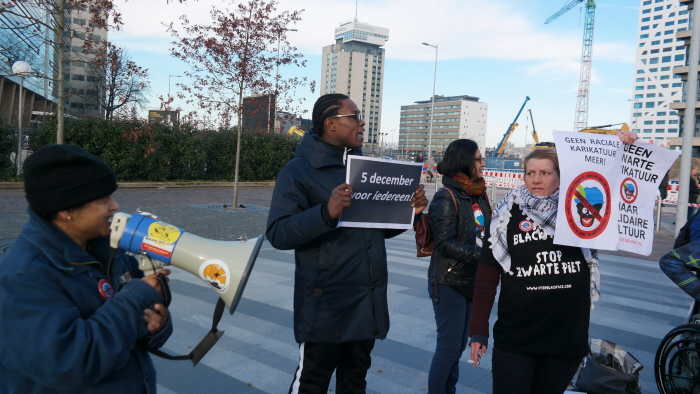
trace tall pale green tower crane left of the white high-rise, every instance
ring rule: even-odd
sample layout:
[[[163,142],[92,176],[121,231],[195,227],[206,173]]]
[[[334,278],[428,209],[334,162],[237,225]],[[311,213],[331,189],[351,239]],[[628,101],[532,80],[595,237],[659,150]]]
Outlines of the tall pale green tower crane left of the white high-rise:
[[[544,23],[557,19],[566,11],[586,1],[586,18],[583,26],[583,49],[581,51],[581,73],[576,98],[574,131],[581,131],[588,123],[588,91],[591,85],[591,53],[593,51],[593,26],[595,22],[595,0],[571,0]]]

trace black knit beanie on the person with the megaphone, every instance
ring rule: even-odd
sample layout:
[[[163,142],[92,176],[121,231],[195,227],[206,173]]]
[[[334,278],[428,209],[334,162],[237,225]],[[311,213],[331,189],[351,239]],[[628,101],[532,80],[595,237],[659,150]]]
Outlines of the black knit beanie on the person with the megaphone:
[[[24,162],[24,192],[36,213],[76,208],[117,190],[105,162],[75,145],[45,145]]]

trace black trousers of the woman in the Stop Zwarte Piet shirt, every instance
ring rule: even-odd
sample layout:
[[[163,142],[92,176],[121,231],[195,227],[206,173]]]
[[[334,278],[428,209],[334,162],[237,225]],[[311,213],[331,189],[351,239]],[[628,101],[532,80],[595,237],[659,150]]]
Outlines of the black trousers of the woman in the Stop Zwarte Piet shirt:
[[[562,394],[583,357],[493,351],[493,394]]]

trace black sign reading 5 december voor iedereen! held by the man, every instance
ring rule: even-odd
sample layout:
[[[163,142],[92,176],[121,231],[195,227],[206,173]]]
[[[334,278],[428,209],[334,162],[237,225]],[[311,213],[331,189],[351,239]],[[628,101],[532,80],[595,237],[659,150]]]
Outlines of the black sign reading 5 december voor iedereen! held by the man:
[[[338,227],[413,228],[411,202],[421,168],[421,163],[348,156],[346,182],[354,193]]]

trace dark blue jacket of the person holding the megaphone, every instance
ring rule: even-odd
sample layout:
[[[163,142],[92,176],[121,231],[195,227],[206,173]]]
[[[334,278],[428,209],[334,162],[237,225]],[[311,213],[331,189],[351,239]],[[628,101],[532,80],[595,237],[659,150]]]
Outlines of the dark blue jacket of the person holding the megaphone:
[[[143,311],[161,295],[121,251],[107,267],[107,237],[90,241],[89,254],[29,215],[0,260],[0,393],[155,393],[148,349],[165,343],[172,324],[150,336]],[[110,299],[102,279],[114,287]]]

